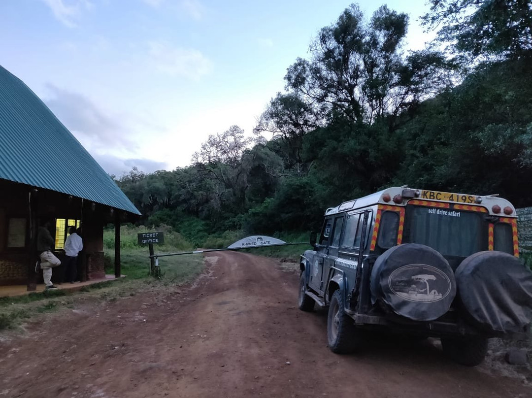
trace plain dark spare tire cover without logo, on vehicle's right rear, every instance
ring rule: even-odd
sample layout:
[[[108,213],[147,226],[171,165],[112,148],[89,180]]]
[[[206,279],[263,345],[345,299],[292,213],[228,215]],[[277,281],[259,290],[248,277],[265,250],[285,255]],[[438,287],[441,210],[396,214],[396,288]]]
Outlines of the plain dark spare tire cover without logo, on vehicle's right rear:
[[[462,309],[477,326],[523,331],[532,320],[532,272],[508,253],[470,255],[455,272]]]

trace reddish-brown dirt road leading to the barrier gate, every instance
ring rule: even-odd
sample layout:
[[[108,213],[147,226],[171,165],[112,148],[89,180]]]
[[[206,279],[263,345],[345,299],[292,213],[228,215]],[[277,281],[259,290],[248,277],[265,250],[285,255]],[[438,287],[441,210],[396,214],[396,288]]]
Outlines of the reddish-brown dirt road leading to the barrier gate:
[[[326,317],[295,308],[298,276],[235,252],[178,293],[91,304],[0,342],[0,397],[530,397],[435,346],[327,348]],[[289,363],[289,364],[288,364]]]

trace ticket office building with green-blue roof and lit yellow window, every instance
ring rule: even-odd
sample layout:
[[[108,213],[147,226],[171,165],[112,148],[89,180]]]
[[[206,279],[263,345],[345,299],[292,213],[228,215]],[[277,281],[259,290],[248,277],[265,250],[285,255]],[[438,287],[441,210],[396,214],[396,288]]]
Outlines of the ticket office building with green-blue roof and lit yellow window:
[[[69,226],[79,227],[81,279],[102,278],[103,228],[115,226],[114,273],[120,276],[120,223],[140,212],[48,107],[0,66],[0,285],[35,289],[36,233],[51,221],[61,259]],[[54,271],[52,280],[61,272]]]

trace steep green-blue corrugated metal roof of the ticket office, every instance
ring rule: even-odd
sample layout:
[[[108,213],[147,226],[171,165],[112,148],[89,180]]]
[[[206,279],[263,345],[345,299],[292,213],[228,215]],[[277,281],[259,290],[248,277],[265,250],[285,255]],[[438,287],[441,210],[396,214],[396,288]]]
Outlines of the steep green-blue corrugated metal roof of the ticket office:
[[[140,214],[44,102],[2,66],[0,178]]]

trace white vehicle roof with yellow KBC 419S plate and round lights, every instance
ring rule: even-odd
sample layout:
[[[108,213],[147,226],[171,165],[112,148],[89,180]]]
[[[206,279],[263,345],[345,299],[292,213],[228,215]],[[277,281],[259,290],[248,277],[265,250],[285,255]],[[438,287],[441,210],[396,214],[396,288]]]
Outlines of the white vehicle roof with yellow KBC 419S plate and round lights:
[[[406,206],[411,200],[421,202],[455,203],[464,206],[480,206],[491,215],[517,218],[516,209],[506,199],[497,195],[469,195],[450,192],[439,192],[426,189],[409,188],[408,186],[391,187],[374,194],[343,202],[335,208],[326,210],[325,215],[343,213],[372,205]],[[418,203],[420,204],[420,203]],[[498,206],[498,211],[496,206]],[[509,209],[506,209],[509,208]],[[468,210],[468,209],[462,209]],[[495,210],[495,211],[494,211]]]

